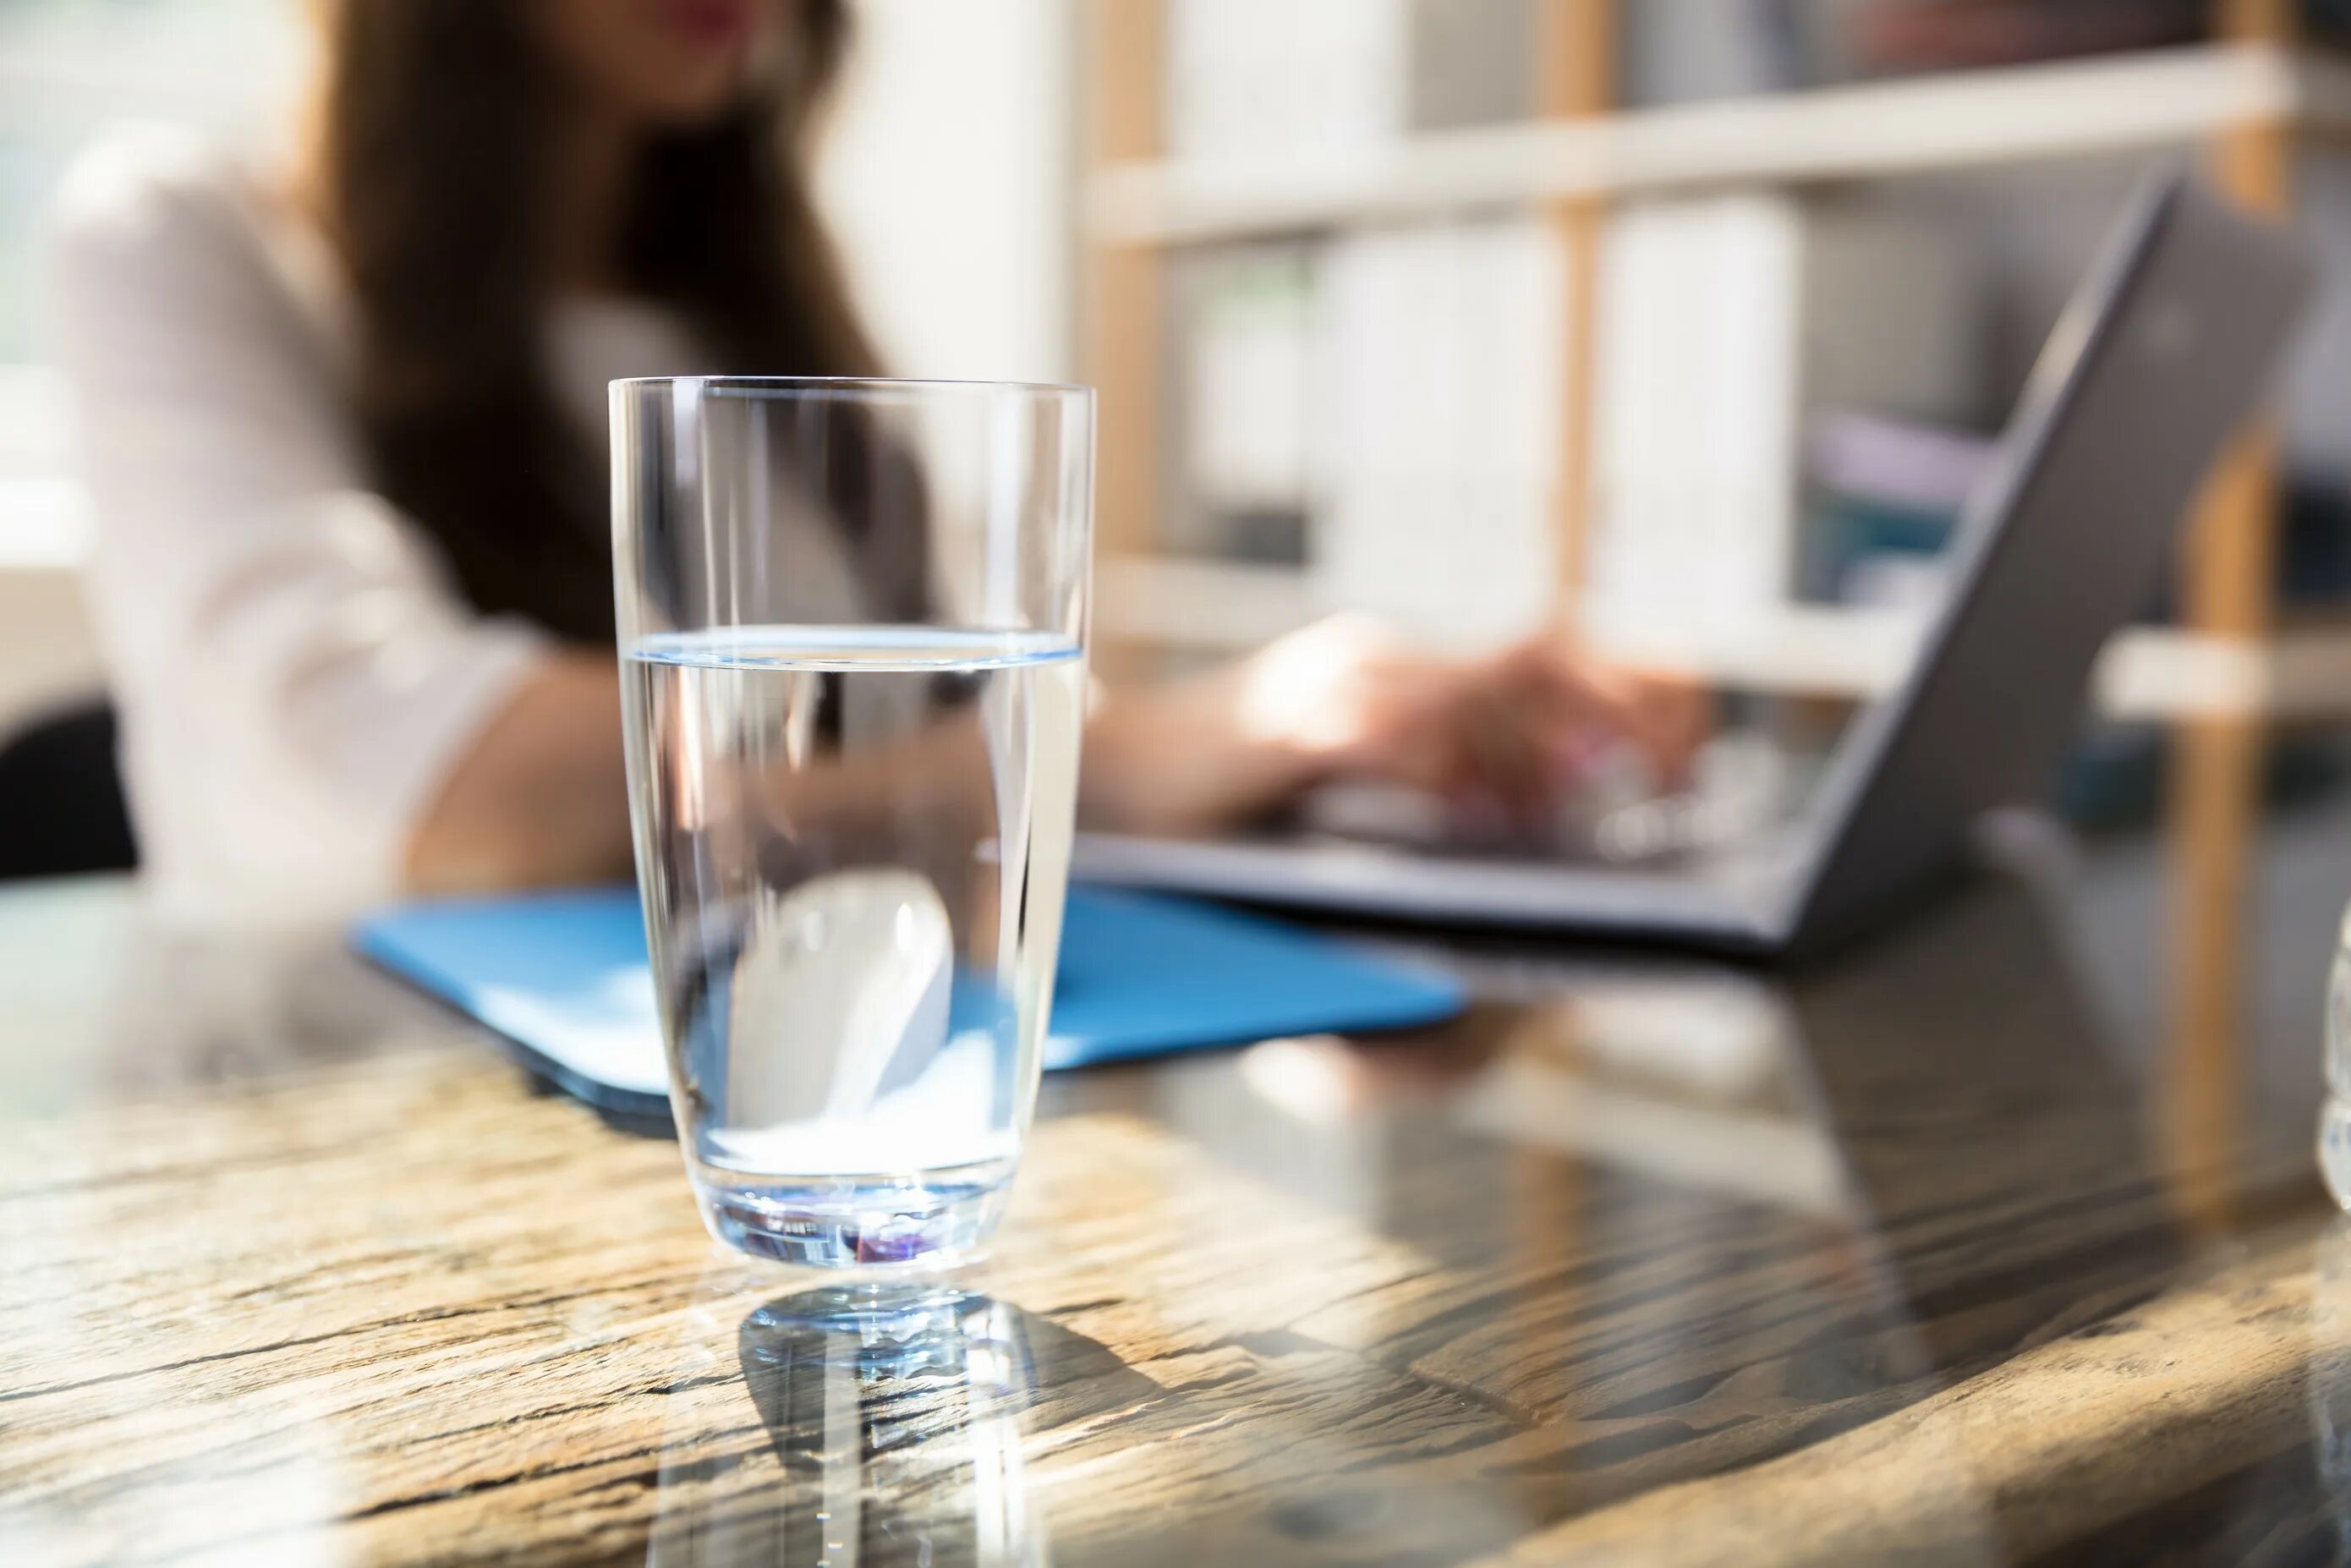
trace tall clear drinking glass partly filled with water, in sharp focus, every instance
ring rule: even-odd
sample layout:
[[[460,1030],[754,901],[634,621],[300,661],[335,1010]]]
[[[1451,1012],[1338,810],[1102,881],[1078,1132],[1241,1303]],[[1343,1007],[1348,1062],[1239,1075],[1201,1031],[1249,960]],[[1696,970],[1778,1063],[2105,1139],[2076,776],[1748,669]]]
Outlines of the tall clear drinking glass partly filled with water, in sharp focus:
[[[994,1229],[1060,945],[1093,393],[611,388],[637,882],[710,1232],[947,1265]]]

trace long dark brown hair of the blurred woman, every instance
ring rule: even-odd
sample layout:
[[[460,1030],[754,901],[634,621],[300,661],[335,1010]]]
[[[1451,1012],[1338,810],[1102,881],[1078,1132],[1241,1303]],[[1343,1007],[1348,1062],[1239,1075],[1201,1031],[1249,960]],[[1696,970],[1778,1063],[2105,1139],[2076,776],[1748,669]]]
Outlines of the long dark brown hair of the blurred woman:
[[[621,282],[677,310],[726,371],[870,376],[875,350],[806,183],[846,5],[783,9],[783,49],[743,103],[642,148]],[[609,644],[604,465],[543,360],[555,66],[522,0],[331,0],[324,26],[313,200],[355,292],[357,425],[376,484],[442,545],[477,609]],[[842,494],[870,491],[860,468],[889,461],[870,442],[830,456]],[[842,524],[870,592],[919,599],[922,567],[905,559],[919,534]]]

